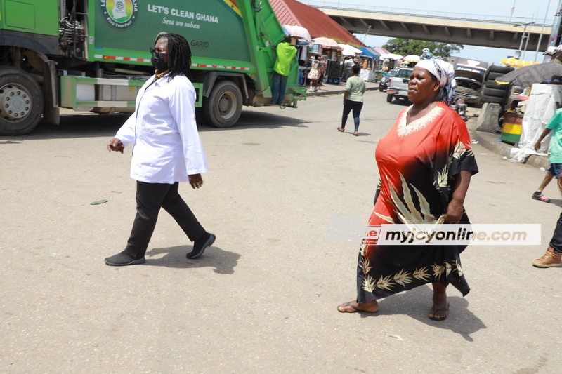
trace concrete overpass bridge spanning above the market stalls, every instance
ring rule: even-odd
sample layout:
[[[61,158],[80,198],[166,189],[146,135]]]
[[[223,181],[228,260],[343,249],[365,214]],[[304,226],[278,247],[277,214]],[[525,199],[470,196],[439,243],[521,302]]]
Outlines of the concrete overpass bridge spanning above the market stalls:
[[[509,18],[496,15],[470,15],[414,11],[375,6],[351,6],[325,1],[302,1],[319,8],[353,34],[369,34],[390,38],[440,41],[471,46],[523,48],[546,51],[553,20]],[[464,3],[469,4],[469,3]],[[531,23],[532,22],[532,23]],[[525,25],[527,24],[527,25]],[[523,33],[525,36],[523,36]],[[542,34],[542,38],[540,35]]]

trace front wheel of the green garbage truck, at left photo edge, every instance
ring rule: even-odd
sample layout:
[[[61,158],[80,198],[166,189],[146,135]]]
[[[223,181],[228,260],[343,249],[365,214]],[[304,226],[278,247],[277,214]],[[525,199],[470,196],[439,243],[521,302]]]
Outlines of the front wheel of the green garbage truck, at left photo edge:
[[[37,81],[21,69],[0,68],[0,135],[25,135],[43,113]]]

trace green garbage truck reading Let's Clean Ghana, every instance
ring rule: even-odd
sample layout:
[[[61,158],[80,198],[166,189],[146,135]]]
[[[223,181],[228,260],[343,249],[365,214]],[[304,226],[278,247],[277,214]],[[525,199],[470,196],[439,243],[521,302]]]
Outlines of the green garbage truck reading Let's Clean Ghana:
[[[190,42],[198,121],[229,127],[242,105],[270,105],[284,33],[267,0],[0,0],[0,135],[58,124],[61,107],[133,112],[159,32]],[[306,99],[297,74],[295,60],[289,107]]]

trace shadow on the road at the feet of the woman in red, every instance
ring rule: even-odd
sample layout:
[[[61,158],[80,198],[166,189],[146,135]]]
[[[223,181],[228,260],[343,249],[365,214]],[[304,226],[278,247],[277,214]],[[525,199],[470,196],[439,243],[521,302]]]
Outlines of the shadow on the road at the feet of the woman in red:
[[[449,287],[452,288],[452,287]],[[454,291],[453,291],[454,292]],[[405,293],[392,295],[379,302],[377,314],[405,314],[432,327],[451,330],[462,335],[469,342],[473,342],[471,334],[487,328],[483,321],[469,310],[469,302],[460,296],[449,296],[449,312],[444,321],[432,321],[427,316],[431,309],[433,290],[429,286],[421,286]],[[376,316],[377,314],[361,314],[362,318]]]

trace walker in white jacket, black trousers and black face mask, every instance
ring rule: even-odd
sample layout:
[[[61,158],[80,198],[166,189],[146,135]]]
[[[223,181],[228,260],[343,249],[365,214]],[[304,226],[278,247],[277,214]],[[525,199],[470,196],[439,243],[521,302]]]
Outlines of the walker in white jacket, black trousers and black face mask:
[[[107,149],[123,153],[131,145],[131,178],[137,181],[136,217],[126,248],[105,259],[111,266],[145,262],[145,252],[160,208],[193,241],[190,259],[199,258],[216,236],[205,231],[178,194],[178,182],[203,185],[207,161],[195,122],[195,88],[190,76],[191,50],[180,34],[159,34],[152,53],[155,75],[138,91],[136,111],[117,131]]]

